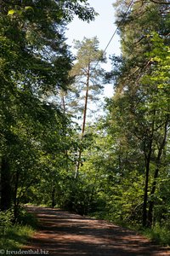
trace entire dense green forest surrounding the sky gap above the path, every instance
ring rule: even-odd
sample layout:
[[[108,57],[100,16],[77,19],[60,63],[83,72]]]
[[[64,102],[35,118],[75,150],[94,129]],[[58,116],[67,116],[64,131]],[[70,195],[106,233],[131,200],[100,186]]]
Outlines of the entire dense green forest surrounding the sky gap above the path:
[[[14,222],[29,203],[170,228],[170,4],[113,8],[122,54],[106,72],[97,37],[76,56],[66,44],[75,15],[95,19],[88,0],[0,1],[0,209]]]

